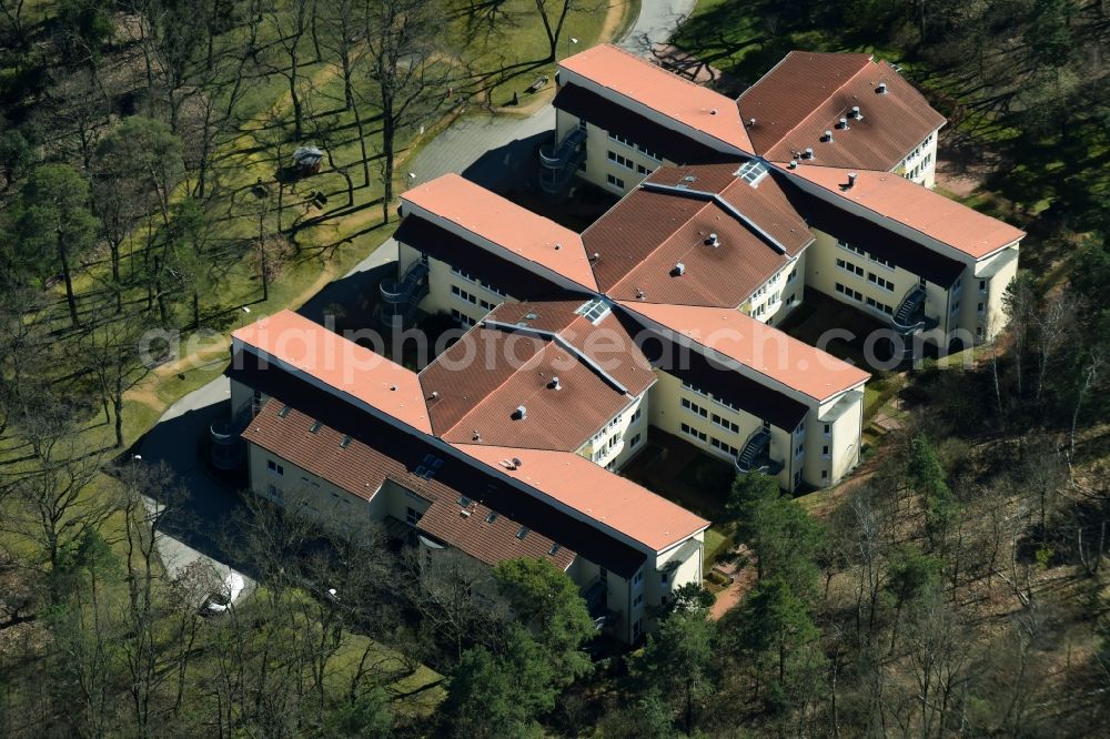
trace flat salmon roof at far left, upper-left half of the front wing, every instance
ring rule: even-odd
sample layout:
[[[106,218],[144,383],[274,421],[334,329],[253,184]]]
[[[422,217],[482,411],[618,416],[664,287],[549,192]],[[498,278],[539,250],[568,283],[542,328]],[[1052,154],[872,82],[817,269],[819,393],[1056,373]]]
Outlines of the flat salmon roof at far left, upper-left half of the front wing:
[[[232,338],[416,431],[432,433],[416,373],[292,311],[255,321],[233,332]]]

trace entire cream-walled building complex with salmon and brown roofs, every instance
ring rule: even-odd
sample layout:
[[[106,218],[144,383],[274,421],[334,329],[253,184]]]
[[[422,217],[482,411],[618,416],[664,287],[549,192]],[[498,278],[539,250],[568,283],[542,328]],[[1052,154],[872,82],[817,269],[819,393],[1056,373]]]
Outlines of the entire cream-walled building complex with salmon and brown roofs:
[[[775,326],[816,291],[946,350],[992,336],[1022,233],[930,188],[944,118],[867,54],[791,53],[737,100],[614,47],[561,64],[541,186],[578,233],[458,175],[402,196],[385,316],[465,328],[418,373],[284,313],[235,333],[252,488],[392,522],[428,556],[551,559],[625,640],[702,577],[708,522],[620,477],[654,428],[824,487],[868,373]],[[263,372],[263,370],[268,370]]]

